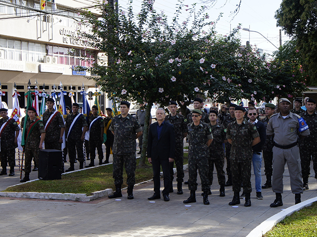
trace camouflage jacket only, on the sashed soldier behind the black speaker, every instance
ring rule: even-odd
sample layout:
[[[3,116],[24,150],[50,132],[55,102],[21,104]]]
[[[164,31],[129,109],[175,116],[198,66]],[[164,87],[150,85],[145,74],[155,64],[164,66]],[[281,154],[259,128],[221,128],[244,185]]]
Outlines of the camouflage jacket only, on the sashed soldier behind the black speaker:
[[[44,112],[43,114],[44,125],[46,125],[49,118],[53,115],[54,111],[55,110],[53,109],[51,113],[48,110]],[[60,136],[60,129],[62,127],[65,127],[64,120],[62,118],[62,115],[59,112],[57,112],[57,115],[55,116],[55,118],[53,118],[53,120],[51,120],[50,125],[46,129],[45,142],[58,141]]]

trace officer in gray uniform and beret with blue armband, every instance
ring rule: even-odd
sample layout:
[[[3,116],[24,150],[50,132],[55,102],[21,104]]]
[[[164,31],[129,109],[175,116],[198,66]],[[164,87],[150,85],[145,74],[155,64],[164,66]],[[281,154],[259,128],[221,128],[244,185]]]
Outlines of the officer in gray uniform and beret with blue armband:
[[[276,195],[270,207],[282,206],[283,173],[287,162],[291,181],[291,190],[295,194],[295,204],[301,202],[303,193],[301,159],[298,148],[298,136],[304,138],[310,134],[303,118],[290,112],[291,102],[286,98],[278,101],[279,113],[272,115],[266,127],[266,135],[273,138],[273,176],[272,190]]]

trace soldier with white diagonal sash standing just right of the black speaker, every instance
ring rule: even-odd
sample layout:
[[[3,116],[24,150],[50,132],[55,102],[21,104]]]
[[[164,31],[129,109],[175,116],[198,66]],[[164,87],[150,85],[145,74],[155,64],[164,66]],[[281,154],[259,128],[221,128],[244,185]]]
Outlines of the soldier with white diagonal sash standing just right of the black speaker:
[[[85,133],[88,129],[88,124],[86,122],[86,118],[83,114],[78,113],[79,105],[77,103],[73,103],[72,105],[72,113],[66,118],[66,134],[67,134],[67,146],[68,146],[68,156],[70,167],[66,169],[66,172],[75,170],[74,163],[76,159],[76,150],[77,156],[79,160],[79,168],[82,169],[84,167],[84,152],[83,152],[83,141]],[[77,118],[75,120],[75,118]],[[75,122],[73,123],[73,121]],[[73,126],[72,126],[73,123]],[[84,129],[83,129],[84,127]]]

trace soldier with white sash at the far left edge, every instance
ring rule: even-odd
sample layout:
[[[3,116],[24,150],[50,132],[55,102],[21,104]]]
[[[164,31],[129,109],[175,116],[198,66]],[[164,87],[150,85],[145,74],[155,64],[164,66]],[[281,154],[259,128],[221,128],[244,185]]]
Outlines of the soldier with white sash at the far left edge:
[[[0,109],[0,138],[1,138],[1,167],[0,175],[6,175],[6,165],[9,163],[10,173],[9,176],[14,175],[15,166],[15,148],[17,148],[17,138],[20,128],[13,118],[8,117],[8,110],[5,108]],[[5,123],[5,124],[4,124]],[[4,125],[3,125],[4,124]],[[3,127],[2,127],[3,126]]]

